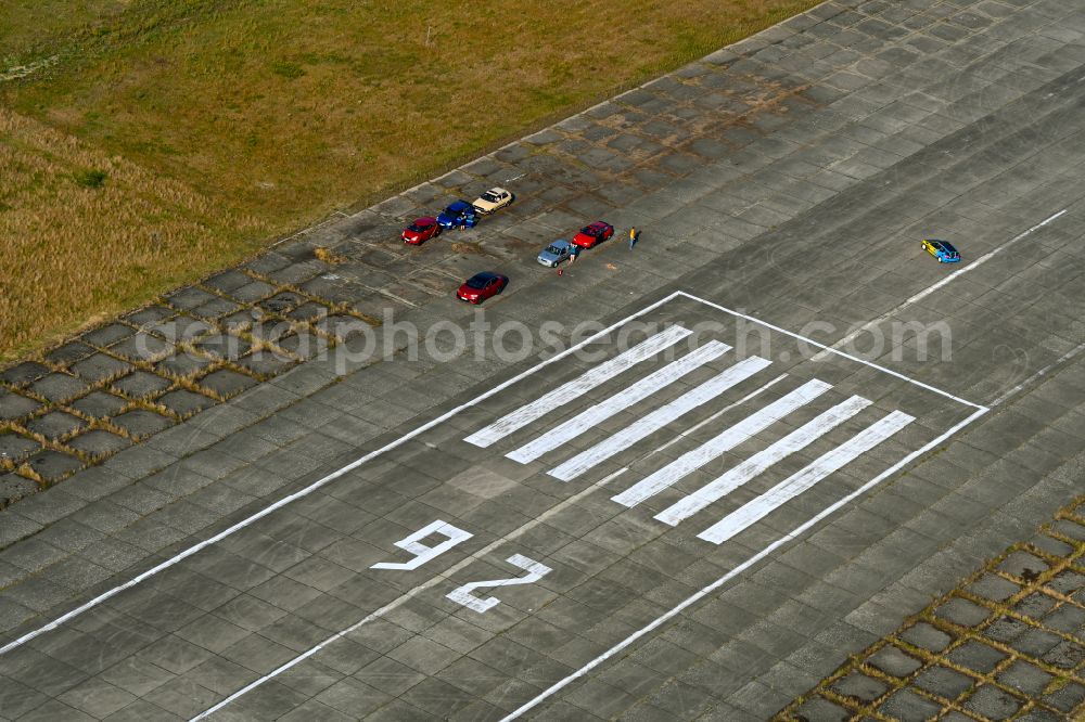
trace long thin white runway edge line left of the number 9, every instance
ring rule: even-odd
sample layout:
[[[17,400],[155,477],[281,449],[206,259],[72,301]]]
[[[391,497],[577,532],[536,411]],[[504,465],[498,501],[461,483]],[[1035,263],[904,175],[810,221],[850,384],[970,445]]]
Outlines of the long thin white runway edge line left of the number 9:
[[[84,614],[88,609],[93,609],[94,607],[97,607],[98,605],[102,604],[106,599],[110,599],[110,598],[116,596],[117,594],[119,594],[120,592],[125,591],[126,589],[131,589],[132,586],[136,586],[137,584],[140,584],[144,580],[150,579],[151,577],[157,575],[161,571],[164,571],[165,569],[168,569],[169,567],[174,566],[178,562],[187,559],[188,557],[192,556],[193,554],[195,554],[197,552],[200,552],[201,550],[206,549],[206,547],[210,546],[212,544],[217,544],[218,542],[220,542],[221,540],[226,539],[230,534],[237,532],[240,529],[244,529],[245,527],[250,526],[254,521],[263,519],[268,514],[271,514],[272,512],[276,512],[277,510],[282,508],[283,506],[290,504],[291,502],[294,502],[294,501],[296,501],[298,499],[303,499],[303,498],[307,497],[308,494],[312,493],[317,489],[320,489],[321,487],[323,487],[323,486],[330,484],[331,481],[340,478],[344,474],[348,474],[349,472],[358,468],[359,466],[361,466],[366,462],[370,461],[371,459],[380,456],[381,454],[385,453],[386,451],[391,451],[392,449],[396,449],[397,447],[400,447],[404,443],[407,443],[408,441],[410,441],[414,437],[417,437],[417,436],[419,436],[421,434],[424,434],[425,431],[430,430],[434,426],[437,426],[438,424],[442,424],[442,423],[448,421],[449,418],[451,418],[452,416],[457,415],[458,413],[460,413],[464,409],[470,409],[471,407],[474,407],[474,405],[477,405],[477,404],[482,403],[483,401],[485,401],[486,399],[490,398],[492,396],[496,396],[497,394],[500,394],[501,391],[503,391],[508,387],[512,386],[513,384],[515,384],[515,383],[518,383],[520,381],[523,381],[524,378],[526,378],[526,377],[531,376],[532,374],[536,373],[539,369],[545,369],[546,366],[548,366],[548,365],[550,365],[552,363],[557,363],[557,362],[561,361],[562,359],[564,359],[565,357],[567,357],[567,356],[570,356],[572,353],[575,353],[576,351],[578,351],[579,349],[584,348],[588,344],[593,344],[595,341],[597,341],[597,340],[599,340],[601,338],[605,338],[615,328],[618,328],[620,326],[623,326],[626,323],[629,323],[634,319],[640,318],[641,315],[644,315],[646,313],[649,313],[649,312],[655,310],[656,308],[663,306],[664,304],[666,304],[666,302],[668,302],[671,300],[674,300],[675,298],[679,297],[680,295],[681,295],[680,292],[676,291],[675,293],[671,294],[669,296],[661,298],[660,300],[655,301],[654,304],[650,304],[650,305],[646,306],[644,308],[642,308],[641,310],[637,311],[636,313],[630,313],[629,315],[625,317],[621,321],[616,321],[615,323],[612,323],[611,325],[607,326],[605,328],[603,328],[599,333],[595,334],[593,336],[590,336],[590,337],[584,339],[579,344],[575,344],[573,346],[570,346],[567,349],[565,349],[564,351],[562,351],[560,353],[557,353],[552,358],[547,359],[546,361],[542,361],[541,363],[535,364],[531,369],[527,369],[527,370],[525,370],[525,371],[516,374],[512,378],[498,384],[494,388],[489,389],[488,391],[486,391],[484,394],[481,394],[481,395],[476,396],[475,398],[471,399],[470,401],[461,403],[460,405],[456,407],[455,409],[451,409],[450,411],[447,411],[447,412],[443,413],[442,415],[437,416],[436,418],[434,418],[432,421],[429,421],[429,422],[422,424],[421,426],[418,426],[413,430],[405,434],[404,436],[399,437],[398,439],[395,439],[394,441],[391,441],[391,442],[384,444],[380,449],[378,449],[375,451],[371,451],[368,454],[361,456],[360,459],[356,459],[355,461],[350,462],[346,466],[343,466],[343,467],[341,467],[341,468],[332,472],[331,474],[329,474],[329,475],[327,475],[324,477],[321,477],[320,479],[317,479],[316,481],[314,481],[309,486],[305,487],[304,489],[299,489],[298,491],[295,491],[292,494],[283,497],[282,499],[280,499],[279,501],[275,502],[273,504],[269,504],[268,506],[265,506],[264,508],[261,508],[259,512],[256,512],[252,516],[245,517],[241,521],[238,521],[237,524],[234,524],[234,525],[232,525],[230,527],[227,527],[226,529],[224,529],[222,531],[218,532],[217,534],[214,534],[213,537],[209,537],[209,538],[203,540],[202,542],[193,544],[192,546],[189,546],[188,549],[186,549],[183,552],[180,552],[180,553],[178,553],[178,554],[171,556],[171,557],[169,557],[168,559],[165,559],[162,563],[159,563],[159,564],[151,567],[146,571],[143,571],[143,572],[137,575],[136,577],[132,577],[131,579],[129,579],[124,584],[118,584],[117,586],[114,586],[114,588],[112,588],[112,589],[110,589],[110,590],[107,590],[107,591],[99,594],[98,596],[95,596],[95,597],[93,597],[93,598],[91,598],[91,599],[89,599],[89,601],[80,604],[79,606],[77,606],[76,608],[72,609],[71,611],[67,611],[67,613],[61,615],[60,617],[56,617],[55,619],[53,619],[48,624],[46,624],[43,627],[39,627],[36,630],[27,632],[26,634],[23,634],[22,636],[15,639],[15,640],[12,640],[8,644],[5,644],[2,647],[0,647],[0,656],[7,654],[9,652],[11,652],[12,649],[15,649],[16,647],[23,646],[24,644],[26,644],[30,640],[34,640],[34,639],[36,639],[36,637],[44,634],[46,632],[48,632],[50,630],[56,629],[58,627],[60,627],[64,622],[67,622],[69,620],[72,620],[72,619],[75,619],[76,617],[78,617],[79,615]]]

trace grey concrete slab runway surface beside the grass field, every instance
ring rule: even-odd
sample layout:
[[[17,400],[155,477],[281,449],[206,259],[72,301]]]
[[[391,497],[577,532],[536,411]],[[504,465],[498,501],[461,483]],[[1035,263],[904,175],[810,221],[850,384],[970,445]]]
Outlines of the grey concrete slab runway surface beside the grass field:
[[[903,620],[1081,493],[1083,38],[1085,12],[1065,2],[830,0],[7,370],[0,488],[18,501],[0,511],[0,717],[190,719],[222,705],[216,719],[760,720],[827,675],[841,683],[850,654],[884,657]],[[398,240],[405,221],[490,185],[516,202],[417,249]],[[535,263],[596,218],[614,241],[561,276]],[[959,269],[922,253],[932,236],[961,249]],[[749,318],[764,335],[745,357],[788,377],[754,401],[756,376],[698,396],[737,351],[652,395],[618,374],[472,444],[621,351],[601,338],[600,358],[545,366],[362,352],[401,347],[401,323],[469,330],[477,317],[452,292],[488,268],[511,280],[483,307],[495,328],[558,321],[567,344],[584,340],[570,338],[579,323],[621,331],[641,313],[718,324],[703,348],[735,345]],[[831,345],[878,319],[860,361],[803,353],[808,337]],[[952,354],[923,359],[916,324],[940,323]],[[707,517],[653,514],[810,428],[814,405],[732,434],[639,505],[611,498],[815,378],[832,386],[822,408],[852,395],[869,401],[861,414],[911,421],[765,516],[758,499],[877,414],[818,429]],[[694,397],[640,441],[608,441]],[[960,400],[987,411],[973,418]],[[580,431],[551,456],[510,459],[551,422]],[[607,443],[590,478],[551,474]],[[372,567],[424,554],[396,542],[436,519],[471,538],[418,568]],[[709,521],[732,536],[705,541]],[[509,566],[513,554],[548,571]],[[473,588],[498,599],[485,611],[449,597],[525,573],[538,579]],[[940,674],[947,691],[957,681]],[[998,719],[1006,707],[979,694],[962,688],[950,711]],[[838,708],[912,719],[929,701],[914,696]]]

